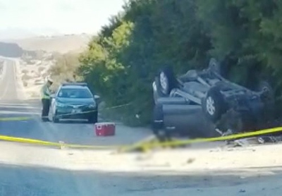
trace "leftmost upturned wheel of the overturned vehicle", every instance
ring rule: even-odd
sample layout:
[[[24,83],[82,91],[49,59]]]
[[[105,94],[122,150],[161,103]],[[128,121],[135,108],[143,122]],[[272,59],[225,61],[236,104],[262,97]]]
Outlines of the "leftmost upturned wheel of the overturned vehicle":
[[[170,67],[162,68],[156,78],[159,97],[168,97],[171,90],[176,87],[176,78]]]

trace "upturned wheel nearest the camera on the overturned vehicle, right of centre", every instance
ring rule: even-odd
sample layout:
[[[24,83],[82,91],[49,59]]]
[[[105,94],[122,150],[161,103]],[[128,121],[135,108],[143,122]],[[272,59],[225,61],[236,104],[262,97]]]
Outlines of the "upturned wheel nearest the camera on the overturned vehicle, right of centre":
[[[223,94],[220,92],[219,86],[209,89],[207,96],[202,100],[202,109],[204,115],[214,123],[226,112],[227,104],[223,98]]]

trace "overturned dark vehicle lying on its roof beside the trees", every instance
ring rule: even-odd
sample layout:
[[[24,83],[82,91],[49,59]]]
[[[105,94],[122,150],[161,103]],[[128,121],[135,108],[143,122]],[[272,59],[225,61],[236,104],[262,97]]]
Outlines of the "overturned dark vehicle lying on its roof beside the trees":
[[[268,114],[274,109],[269,83],[260,81],[250,90],[226,80],[220,70],[220,64],[211,59],[207,69],[190,70],[178,78],[169,67],[159,71],[152,84],[152,129],[159,140],[266,128]]]

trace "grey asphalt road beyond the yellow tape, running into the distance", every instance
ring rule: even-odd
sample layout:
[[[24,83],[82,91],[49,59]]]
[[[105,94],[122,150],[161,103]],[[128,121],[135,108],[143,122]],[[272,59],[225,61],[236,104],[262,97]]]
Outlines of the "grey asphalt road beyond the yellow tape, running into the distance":
[[[43,123],[40,119],[39,100],[23,100],[24,94],[15,74],[15,63],[7,61],[4,76],[0,80],[0,117],[30,117],[28,121],[2,121],[0,134],[14,137],[27,137],[50,142],[63,141],[81,145],[123,145],[140,140],[147,135],[144,129],[131,130],[117,125],[114,137],[96,137],[94,125],[83,122],[63,121],[62,123]]]

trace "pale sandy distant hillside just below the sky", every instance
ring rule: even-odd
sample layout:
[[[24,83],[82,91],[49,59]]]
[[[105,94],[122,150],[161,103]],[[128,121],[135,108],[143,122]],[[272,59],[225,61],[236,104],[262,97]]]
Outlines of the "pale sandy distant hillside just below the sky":
[[[92,35],[63,35],[56,37],[34,37],[27,39],[13,39],[6,42],[18,44],[25,50],[44,50],[48,52],[59,52],[62,54],[69,51],[82,51],[87,47]]]

